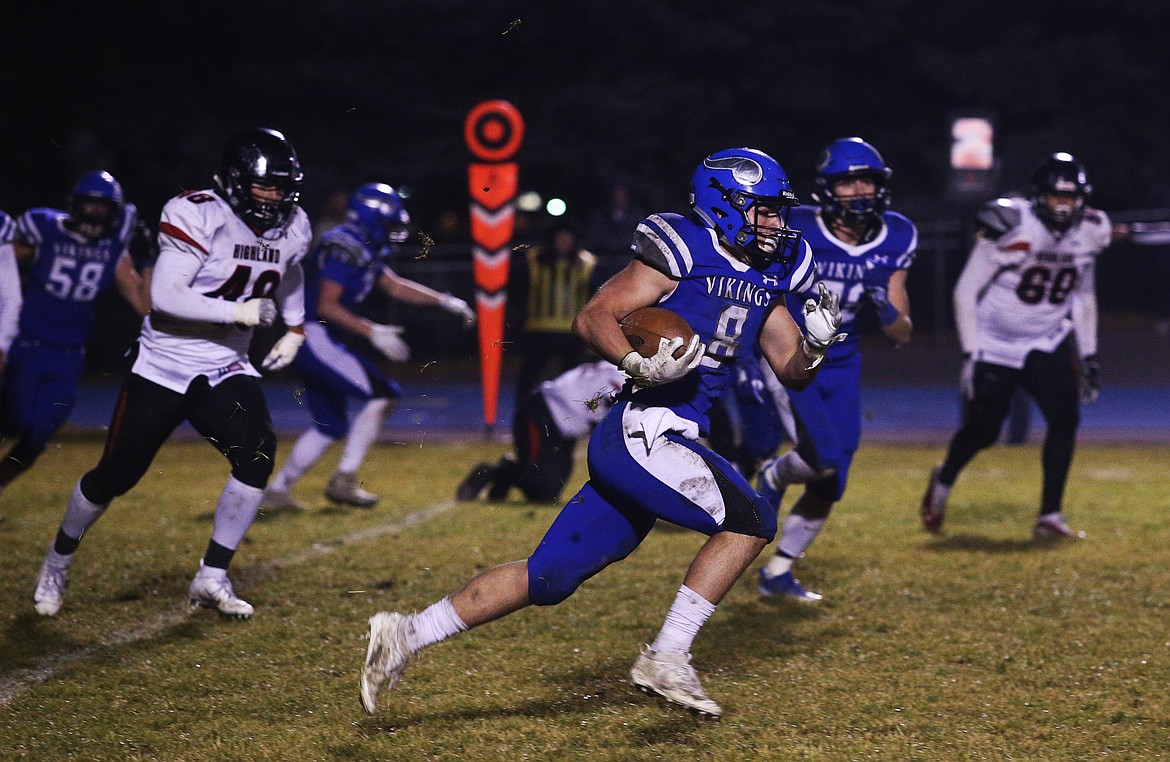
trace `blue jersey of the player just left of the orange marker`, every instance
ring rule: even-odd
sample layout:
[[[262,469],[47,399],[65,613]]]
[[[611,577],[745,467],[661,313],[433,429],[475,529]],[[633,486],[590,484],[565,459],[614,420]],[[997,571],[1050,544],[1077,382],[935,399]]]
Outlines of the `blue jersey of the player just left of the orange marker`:
[[[322,234],[316,248],[304,261],[304,313],[316,321],[321,281],[342,286],[342,307],[353,310],[365,301],[386,269],[383,252],[365,243],[365,236],[353,226],[343,224]]]

